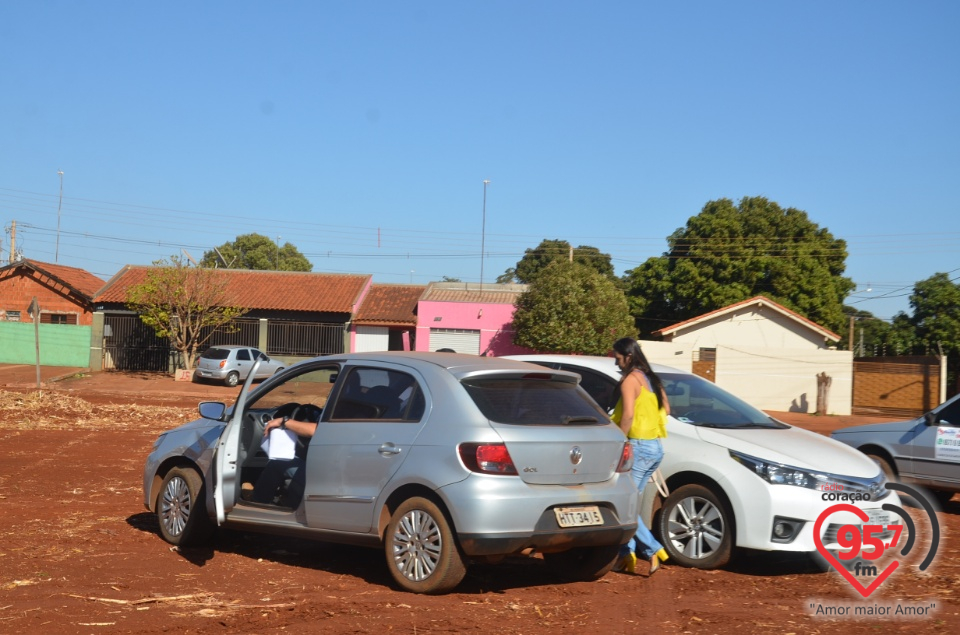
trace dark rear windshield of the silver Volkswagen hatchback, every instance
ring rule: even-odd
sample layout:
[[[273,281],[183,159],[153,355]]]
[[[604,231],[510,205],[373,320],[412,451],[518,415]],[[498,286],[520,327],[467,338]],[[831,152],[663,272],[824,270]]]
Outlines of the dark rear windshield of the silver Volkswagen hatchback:
[[[549,375],[466,379],[463,386],[491,421],[526,425],[597,425],[610,419],[580,386]]]

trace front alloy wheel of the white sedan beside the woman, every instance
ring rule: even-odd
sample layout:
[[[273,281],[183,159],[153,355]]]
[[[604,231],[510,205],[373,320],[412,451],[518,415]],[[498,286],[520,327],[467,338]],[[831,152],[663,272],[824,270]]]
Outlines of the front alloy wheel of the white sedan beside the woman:
[[[660,536],[679,565],[715,569],[733,554],[733,514],[702,485],[684,485],[670,493],[660,512]]]

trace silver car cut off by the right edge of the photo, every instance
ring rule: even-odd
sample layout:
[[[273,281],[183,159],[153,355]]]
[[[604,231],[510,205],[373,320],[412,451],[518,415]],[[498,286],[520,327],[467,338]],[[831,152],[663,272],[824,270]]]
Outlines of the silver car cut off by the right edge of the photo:
[[[960,395],[916,419],[851,426],[830,436],[872,458],[890,478],[926,487],[941,504],[960,492]]]

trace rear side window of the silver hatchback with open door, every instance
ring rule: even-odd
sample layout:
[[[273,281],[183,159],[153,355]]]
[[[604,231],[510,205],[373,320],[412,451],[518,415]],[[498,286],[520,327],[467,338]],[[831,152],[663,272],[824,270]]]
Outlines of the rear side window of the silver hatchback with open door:
[[[330,421],[420,421],[425,410],[423,390],[412,375],[361,366],[347,371]]]

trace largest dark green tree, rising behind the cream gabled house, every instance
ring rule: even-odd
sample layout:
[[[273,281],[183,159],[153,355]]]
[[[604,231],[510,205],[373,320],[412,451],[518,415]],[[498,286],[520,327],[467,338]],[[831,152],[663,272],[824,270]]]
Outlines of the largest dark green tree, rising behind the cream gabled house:
[[[847,324],[846,242],[763,197],[707,203],[667,238],[668,251],[627,271],[642,332],[763,295],[829,329]]]

